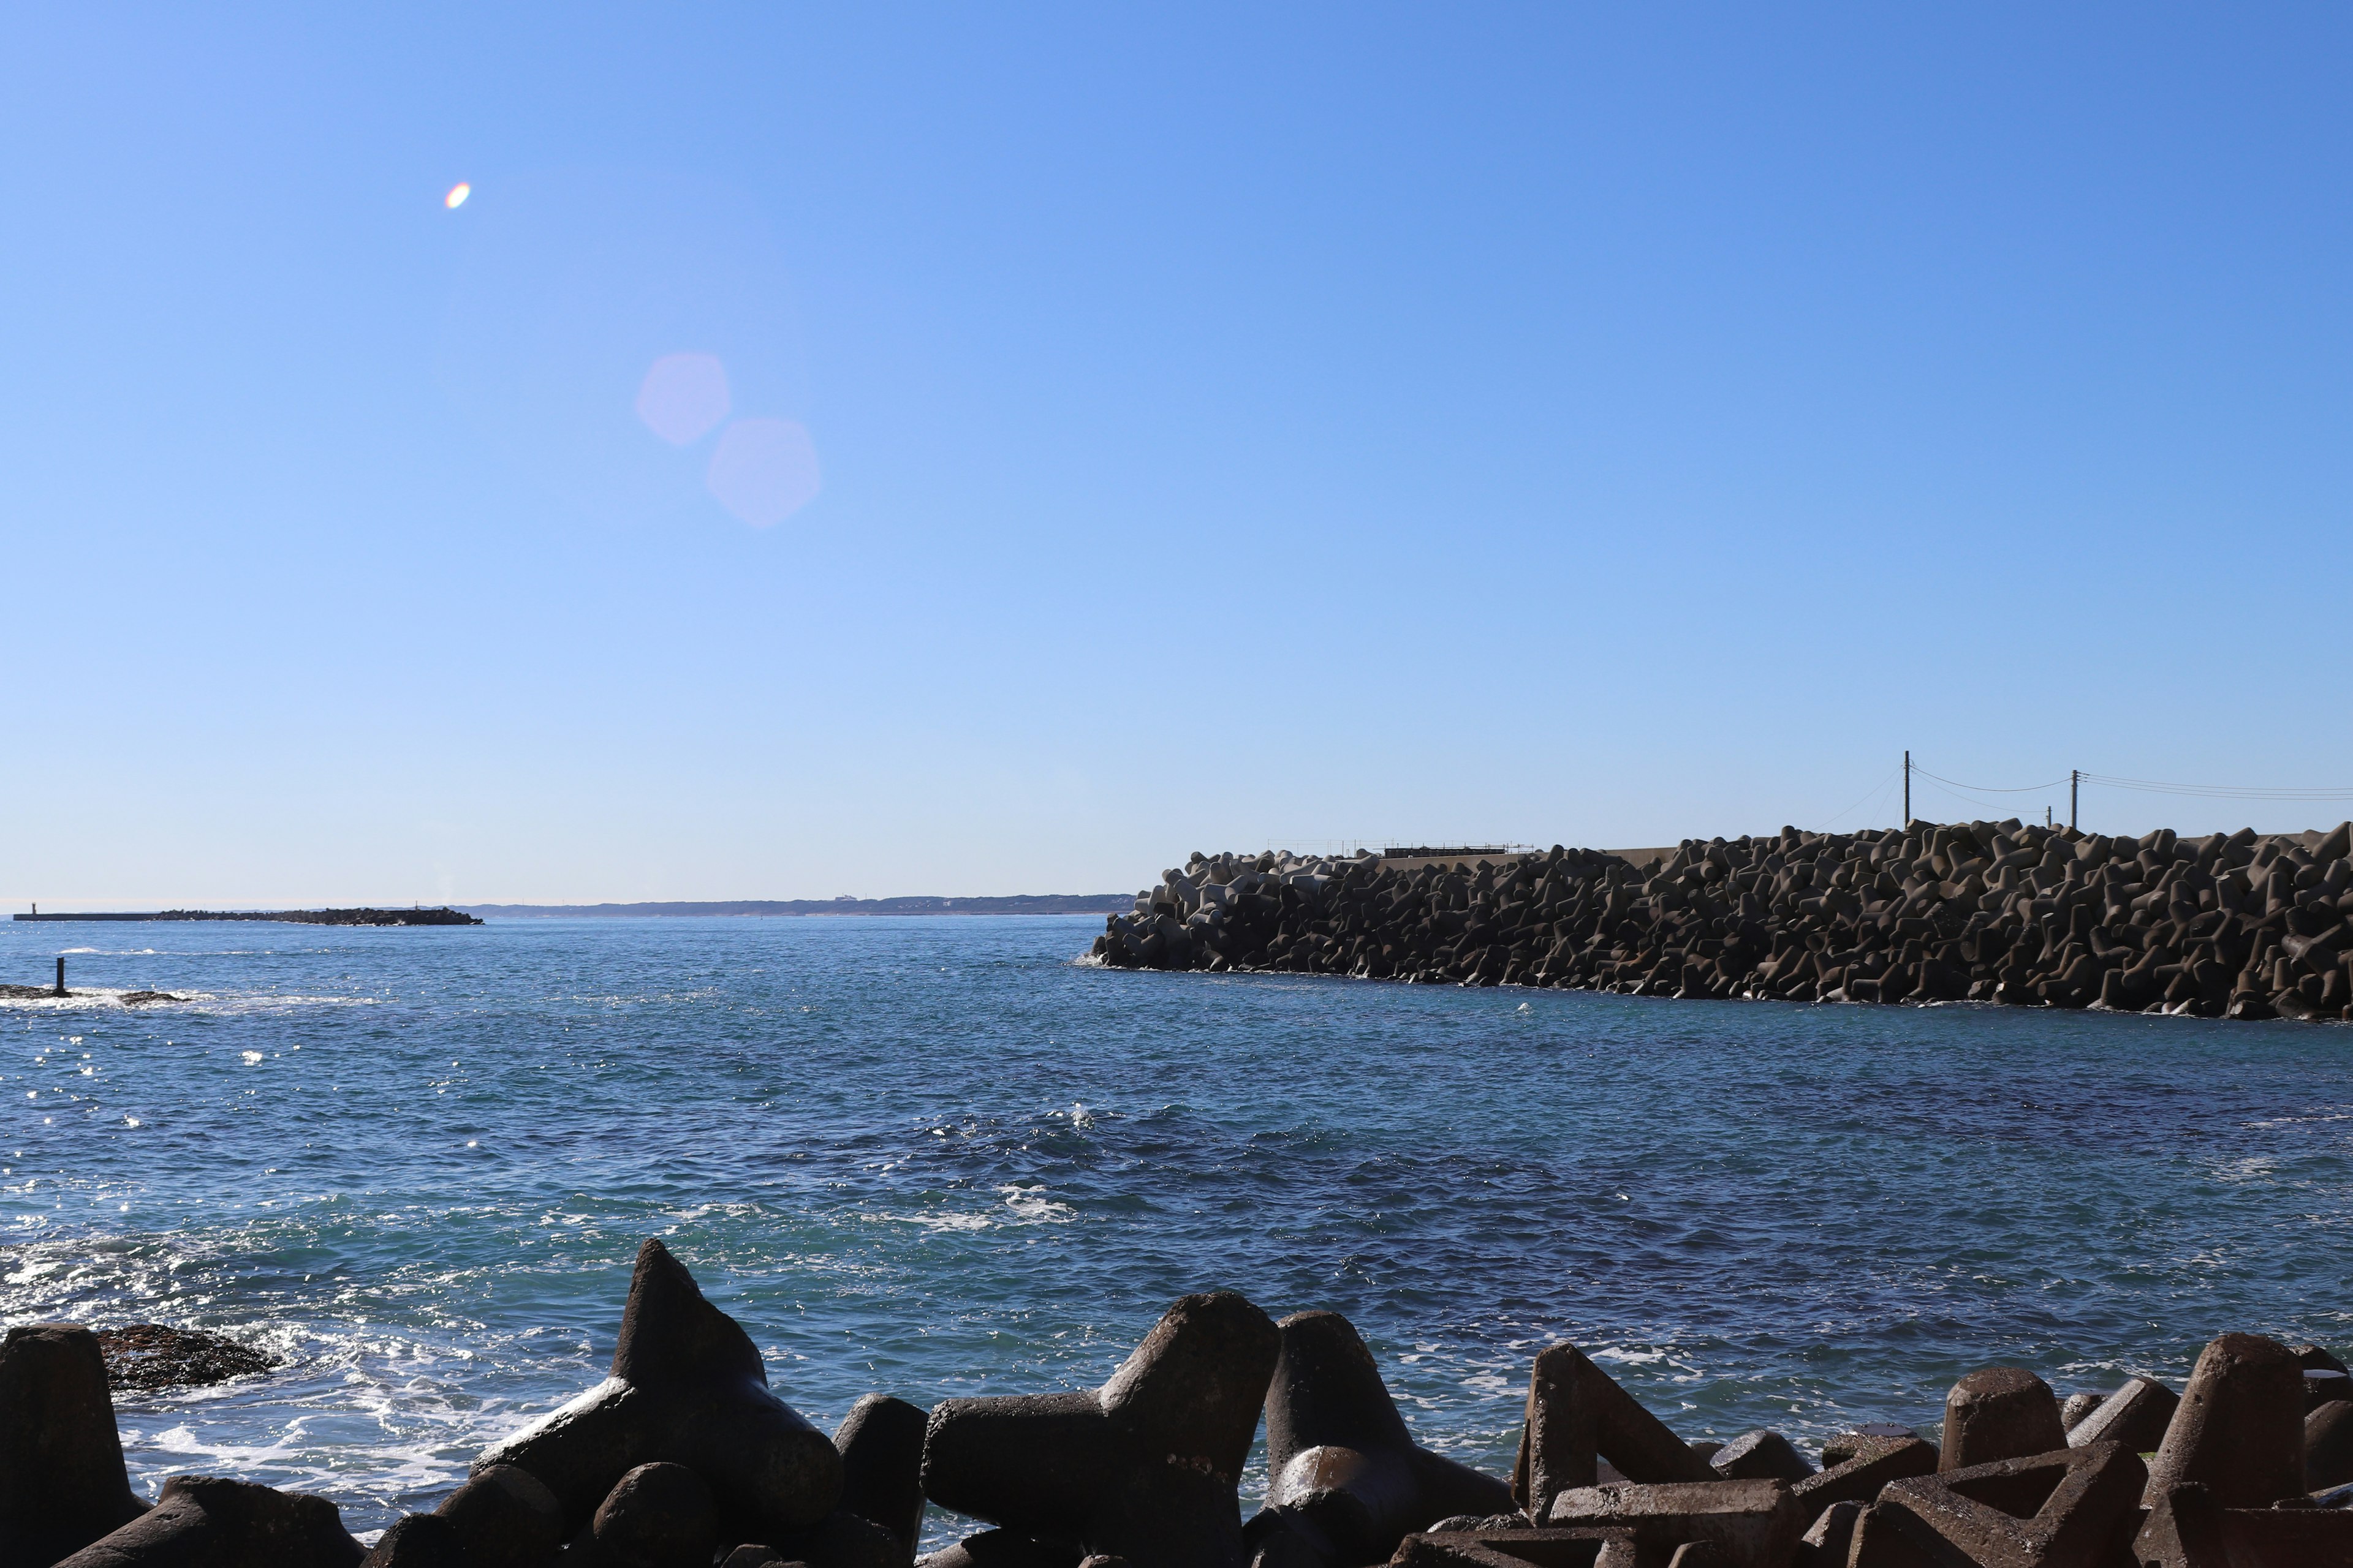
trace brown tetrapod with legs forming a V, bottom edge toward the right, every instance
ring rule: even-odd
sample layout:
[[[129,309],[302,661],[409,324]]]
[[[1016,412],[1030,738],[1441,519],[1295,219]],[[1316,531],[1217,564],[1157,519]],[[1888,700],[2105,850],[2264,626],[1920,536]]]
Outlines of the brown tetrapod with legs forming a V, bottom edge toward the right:
[[[2104,1568],[2146,1481],[2137,1453],[2089,1443],[1892,1481],[1878,1507],[1934,1561]]]

